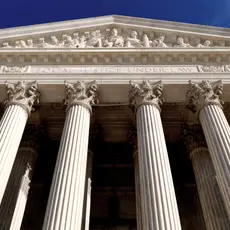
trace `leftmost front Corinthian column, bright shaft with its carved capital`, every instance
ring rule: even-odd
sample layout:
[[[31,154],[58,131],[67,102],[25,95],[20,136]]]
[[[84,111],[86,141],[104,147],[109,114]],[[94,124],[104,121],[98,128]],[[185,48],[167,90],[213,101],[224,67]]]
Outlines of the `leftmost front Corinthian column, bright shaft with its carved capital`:
[[[37,82],[6,82],[8,98],[0,121],[0,203],[33,105],[38,102]]]

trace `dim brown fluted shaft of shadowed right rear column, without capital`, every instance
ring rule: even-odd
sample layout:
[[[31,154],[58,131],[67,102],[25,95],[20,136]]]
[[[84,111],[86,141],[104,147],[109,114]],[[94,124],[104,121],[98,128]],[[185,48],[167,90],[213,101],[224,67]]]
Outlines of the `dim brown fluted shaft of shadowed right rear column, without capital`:
[[[208,149],[196,148],[190,156],[207,230],[229,229],[230,222]]]

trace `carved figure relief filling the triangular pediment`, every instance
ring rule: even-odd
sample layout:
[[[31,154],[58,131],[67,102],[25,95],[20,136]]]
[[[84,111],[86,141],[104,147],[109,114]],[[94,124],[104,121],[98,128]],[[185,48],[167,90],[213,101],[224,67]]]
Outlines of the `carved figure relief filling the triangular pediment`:
[[[153,37],[148,33],[137,32],[136,30],[123,33],[120,31],[121,28],[108,28],[106,32],[95,30],[74,32],[72,35],[62,34],[58,37],[20,39],[14,42],[4,41],[1,48],[209,48],[223,46],[223,44],[210,40],[190,44],[185,42],[182,36],[176,36],[173,42],[169,42],[171,40],[170,35]]]

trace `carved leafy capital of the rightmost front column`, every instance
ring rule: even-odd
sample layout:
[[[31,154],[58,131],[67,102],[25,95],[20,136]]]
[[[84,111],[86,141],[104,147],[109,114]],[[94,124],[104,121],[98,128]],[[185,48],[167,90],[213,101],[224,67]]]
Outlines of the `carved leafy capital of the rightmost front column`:
[[[186,105],[193,113],[199,112],[206,105],[217,105],[222,108],[223,84],[222,81],[209,82],[203,80],[200,83],[189,81],[189,89],[186,94]]]

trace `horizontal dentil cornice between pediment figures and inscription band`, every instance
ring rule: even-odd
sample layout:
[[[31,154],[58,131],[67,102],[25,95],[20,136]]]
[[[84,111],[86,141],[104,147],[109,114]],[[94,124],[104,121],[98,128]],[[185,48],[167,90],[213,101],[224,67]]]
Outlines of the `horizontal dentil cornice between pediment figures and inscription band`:
[[[228,64],[229,48],[0,49],[1,63],[62,64]]]

